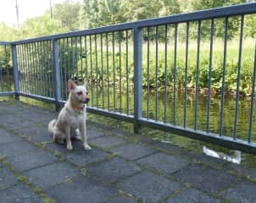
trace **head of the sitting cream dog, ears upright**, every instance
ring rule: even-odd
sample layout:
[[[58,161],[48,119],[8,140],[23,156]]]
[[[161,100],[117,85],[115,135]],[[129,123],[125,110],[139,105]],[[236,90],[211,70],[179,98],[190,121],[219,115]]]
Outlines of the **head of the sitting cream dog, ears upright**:
[[[85,85],[75,85],[73,80],[69,80],[68,89],[70,91],[70,99],[73,102],[80,104],[87,104],[89,102],[87,83]]]

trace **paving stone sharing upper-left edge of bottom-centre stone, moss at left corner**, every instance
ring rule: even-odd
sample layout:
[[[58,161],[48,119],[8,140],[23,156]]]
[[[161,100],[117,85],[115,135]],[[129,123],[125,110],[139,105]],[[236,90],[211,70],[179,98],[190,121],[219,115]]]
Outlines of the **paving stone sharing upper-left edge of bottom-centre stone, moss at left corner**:
[[[94,164],[87,167],[87,169],[97,177],[103,178],[105,181],[112,184],[120,181],[121,178],[131,176],[142,170],[140,167],[137,167],[135,163],[126,162],[120,157],[114,157],[111,160]]]

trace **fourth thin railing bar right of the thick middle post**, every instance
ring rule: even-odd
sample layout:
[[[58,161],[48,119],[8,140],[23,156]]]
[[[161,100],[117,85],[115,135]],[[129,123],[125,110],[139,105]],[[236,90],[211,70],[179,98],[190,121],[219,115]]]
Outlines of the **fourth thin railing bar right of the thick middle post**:
[[[174,58],[174,89],[173,89],[173,124],[176,124],[176,72],[177,72],[177,31],[178,25],[175,24],[175,58]]]

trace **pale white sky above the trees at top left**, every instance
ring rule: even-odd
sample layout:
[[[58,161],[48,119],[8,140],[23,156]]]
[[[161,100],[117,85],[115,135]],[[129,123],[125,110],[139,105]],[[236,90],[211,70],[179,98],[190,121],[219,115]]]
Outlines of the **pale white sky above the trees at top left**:
[[[54,3],[62,3],[64,0],[51,0]],[[72,0],[73,2],[81,2],[81,0]],[[17,0],[19,8],[19,24],[25,19],[40,16],[50,8],[50,0]],[[16,0],[0,0],[0,23],[9,26],[17,25],[16,16]]]

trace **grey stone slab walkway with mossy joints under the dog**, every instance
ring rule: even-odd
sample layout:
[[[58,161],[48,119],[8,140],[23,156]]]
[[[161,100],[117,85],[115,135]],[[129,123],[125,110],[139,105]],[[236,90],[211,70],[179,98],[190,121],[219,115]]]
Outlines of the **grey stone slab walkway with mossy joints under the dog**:
[[[256,170],[87,122],[92,151],[53,143],[53,110],[0,102],[1,202],[256,202]]]

